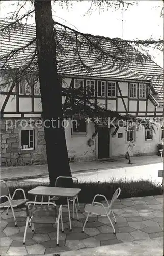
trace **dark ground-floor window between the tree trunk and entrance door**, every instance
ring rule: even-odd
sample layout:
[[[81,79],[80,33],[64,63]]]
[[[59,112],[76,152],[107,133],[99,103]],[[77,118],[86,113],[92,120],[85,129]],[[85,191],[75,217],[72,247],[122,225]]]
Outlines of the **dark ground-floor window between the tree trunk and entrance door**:
[[[72,134],[86,134],[87,122],[81,115],[74,115],[72,118]]]

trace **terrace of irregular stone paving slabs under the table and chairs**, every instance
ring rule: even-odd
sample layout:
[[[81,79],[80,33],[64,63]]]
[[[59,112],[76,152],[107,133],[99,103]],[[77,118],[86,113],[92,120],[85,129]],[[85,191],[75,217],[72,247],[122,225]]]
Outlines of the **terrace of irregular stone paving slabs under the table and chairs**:
[[[56,224],[35,224],[34,232],[25,229],[24,208],[15,209],[18,227],[11,214],[1,211],[1,250],[6,255],[163,255],[163,195],[116,200],[116,235],[106,217],[91,216],[81,233],[86,213],[80,204],[80,220],[72,220],[69,231],[67,208],[63,208],[64,233],[56,246]],[[94,247],[94,248],[91,248]],[[65,252],[64,252],[65,251]],[[63,253],[64,252],[64,253]]]

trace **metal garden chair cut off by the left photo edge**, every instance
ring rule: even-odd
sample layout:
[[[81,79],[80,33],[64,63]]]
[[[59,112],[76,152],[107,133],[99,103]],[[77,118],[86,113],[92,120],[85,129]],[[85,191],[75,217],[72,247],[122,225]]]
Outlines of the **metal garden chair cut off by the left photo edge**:
[[[24,199],[14,199],[14,196],[17,191],[22,191],[22,193],[24,195]],[[13,208],[18,207],[28,201],[28,199],[26,199],[26,196],[25,196],[25,191],[21,188],[17,188],[17,189],[15,189],[15,191],[11,197],[7,183],[4,180],[0,180],[0,199],[1,198],[6,198],[7,201],[4,203],[0,203],[0,208],[7,208],[6,214],[8,215],[8,210],[11,207],[12,214],[13,214],[14,221],[15,221],[15,227],[17,227],[17,221],[15,218]]]

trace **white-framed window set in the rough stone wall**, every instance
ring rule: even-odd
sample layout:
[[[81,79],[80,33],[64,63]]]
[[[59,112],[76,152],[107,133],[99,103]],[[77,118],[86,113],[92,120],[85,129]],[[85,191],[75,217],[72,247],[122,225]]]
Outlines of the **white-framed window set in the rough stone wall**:
[[[34,130],[22,130],[21,131],[21,149],[29,150],[34,149]]]

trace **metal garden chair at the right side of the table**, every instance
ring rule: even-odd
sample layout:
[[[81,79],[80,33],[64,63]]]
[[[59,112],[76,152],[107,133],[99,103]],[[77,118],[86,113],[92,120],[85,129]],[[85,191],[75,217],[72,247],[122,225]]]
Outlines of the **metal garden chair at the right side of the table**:
[[[110,219],[110,213],[112,212],[112,215],[113,215],[113,218],[115,220],[115,224],[116,224],[116,218],[115,218],[115,215],[113,213],[113,210],[112,210],[112,206],[113,206],[113,203],[115,202],[115,200],[119,197],[121,193],[121,189],[120,188],[117,188],[117,190],[115,191],[115,193],[113,194],[113,197],[111,199],[111,203],[109,204],[106,197],[103,196],[103,195],[100,195],[100,194],[97,194],[92,203],[91,204],[86,204],[85,206],[85,212],[88,213],[87,217],[86,217],[86,220],[85,220],[85,223],[84,223],[84,226],[83,226],[83,229],[82,229],[82,232],[84,233],[84,228],[86,226],[86,223],[88,221],[88,217],[90,214],[95,214],[95,215],[100,215],[100,216],[106,216],[108,218],[108,220],[110,221],[111,223],[111,226],[113,228],[113,233],[115,234],[115,228],[112,224],[112,221]],[[99,203],[99,202],[95,202],[95,199],[97,196],[100,196],[100,197],[103,197],[107,203],[107,207],[105,207],[102,203]]]

